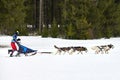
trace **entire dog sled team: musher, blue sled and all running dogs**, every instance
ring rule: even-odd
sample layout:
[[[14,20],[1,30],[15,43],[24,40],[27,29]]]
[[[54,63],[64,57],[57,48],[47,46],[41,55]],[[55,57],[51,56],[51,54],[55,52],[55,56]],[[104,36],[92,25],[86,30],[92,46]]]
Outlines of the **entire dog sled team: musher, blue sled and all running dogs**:
[[[33,50],[33,49],[30,49],[26,46],[23,46],[20,44],[20,41],[21,39],[17,38],[17,36],[19,35],[19,31],[16,31],[13,35],[13,39],[11,41],[11,47],[12,49],[9,49],[8,50],[8,54],[10,54],[10,57],[13,57],[13,53],[15,51],[17,51],[17,55],[16,56],[19,56],[20,54],[24,54],[25,56],[28,56],[28,53],[32,53],[31,55],[35,55],[37,54],[37,50]],[[19,49],[17,49],[17,47]],[[64,52],[64,54],[67,52],[69,53],[70,55],[75,53],[75,52],[78,52],[83,54],[83,51],[87,53],[88,49],[86,47],[83,47],[83,46],[72,46],[72,47],[57,47],[56,45],[54,45],[54,47],[57,49],[57,52],[56,54],[61,54],[62,52]],[[111,48],[114,48],[114,46],[112,44],[109,44],[109,45],[102,45],[102,46],[94,46],[92,47],[91,49],[92,50],[95,50],[95,53],[98,54],[98,53],[107,53],[108,54],[108,51],[111,49]]]

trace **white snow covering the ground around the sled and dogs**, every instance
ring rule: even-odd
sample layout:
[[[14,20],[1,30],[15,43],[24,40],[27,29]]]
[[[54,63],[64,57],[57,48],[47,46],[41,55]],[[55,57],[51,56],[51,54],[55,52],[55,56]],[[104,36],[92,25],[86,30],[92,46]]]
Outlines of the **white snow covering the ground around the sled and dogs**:
[[[40,36],[20,36],[21,43],[39,51],[52,54],[37,54],[30,57],[9,57],[11,36],[1,36],[0,80],[120,80],[120,38],[67,40],[41,38]],[[92,46],[113,44],[109,54],[95,54]],[[56,49],[68,46],[84,46],[88,52],[82,54],[55,55]]]

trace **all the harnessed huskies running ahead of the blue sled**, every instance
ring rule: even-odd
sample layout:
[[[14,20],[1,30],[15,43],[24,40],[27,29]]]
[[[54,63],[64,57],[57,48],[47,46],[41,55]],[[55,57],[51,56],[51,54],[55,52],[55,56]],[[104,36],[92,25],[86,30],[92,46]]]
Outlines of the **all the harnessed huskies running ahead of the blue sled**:
[[[78,52],[83,54],[83,52],[88,52],[88,49],[86,47],[83,46],[75,46],[75,47],[57,47],[56,45],[54,45],[54,47],[57,49],[57,52],[55,54],[65,54],[66,52],[69,53],[70,55],[72,55],[75,52]],[[108,54],[110,49],[113,49],[114,46],[112,44],[108,44],[108,45],[101,45],[101,46],[93,46],[91,47],[92,50],[95,51],[96,54],[98,53],[106,53]]]

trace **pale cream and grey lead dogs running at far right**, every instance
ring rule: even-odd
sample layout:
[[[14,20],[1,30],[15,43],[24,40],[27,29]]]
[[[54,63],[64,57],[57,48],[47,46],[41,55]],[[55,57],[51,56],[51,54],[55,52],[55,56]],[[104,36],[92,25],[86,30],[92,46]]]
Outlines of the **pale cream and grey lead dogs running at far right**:
[[[96,53],[96,54],[98,54],[99,52],[103,53],[103,51],[108,54],[108,51],[109,51],[111,48],[112,48],[112,49],[114,48],[114,46],[113,46],[112,44],[102,45],[102,46],[94,46],[94,47],[92,47],[91,49],[92,49],[92,50],[95,50],[95,53]]]

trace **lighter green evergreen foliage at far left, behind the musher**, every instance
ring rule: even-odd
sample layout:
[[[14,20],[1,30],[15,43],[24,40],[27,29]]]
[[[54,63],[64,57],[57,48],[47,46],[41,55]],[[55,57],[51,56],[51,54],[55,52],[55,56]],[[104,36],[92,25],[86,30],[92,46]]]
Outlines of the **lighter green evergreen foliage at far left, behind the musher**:
[[[11,33],[16,29],[24,28],[24,18],[26,16],[24,12],[24,0],[1,0],[3,5],[4,15],[0,17],[3,19],[1,22],[7,33]]]

